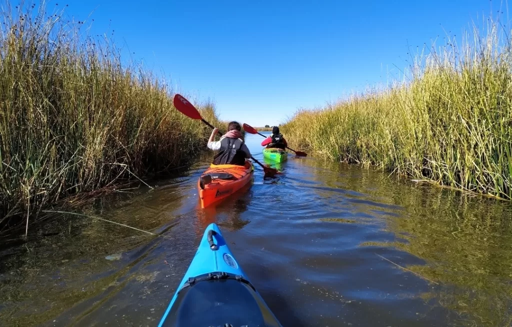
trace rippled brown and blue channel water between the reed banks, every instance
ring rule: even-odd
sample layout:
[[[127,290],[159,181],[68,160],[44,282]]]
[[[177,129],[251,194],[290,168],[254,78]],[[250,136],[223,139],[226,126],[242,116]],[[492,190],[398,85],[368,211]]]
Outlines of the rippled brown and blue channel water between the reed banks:
[[[0,325],[155,326],[211,222],[284,326],[510,325],[508,203],[290,155],[201,209],[205,167],[84,208],[164,237],[62,216],[3,245]]]

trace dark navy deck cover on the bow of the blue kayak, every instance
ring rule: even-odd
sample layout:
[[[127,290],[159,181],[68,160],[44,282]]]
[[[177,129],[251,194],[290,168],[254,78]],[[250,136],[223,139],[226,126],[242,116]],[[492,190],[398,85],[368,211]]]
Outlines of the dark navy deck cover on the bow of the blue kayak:
[[[261,296],[236,278],[192,279],[180,290],[162,326],[279,327]]]

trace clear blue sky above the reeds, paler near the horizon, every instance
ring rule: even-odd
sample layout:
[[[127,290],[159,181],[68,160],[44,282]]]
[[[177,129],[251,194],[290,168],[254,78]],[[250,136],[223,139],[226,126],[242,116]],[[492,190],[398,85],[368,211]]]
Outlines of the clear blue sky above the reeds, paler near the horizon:
[[[398,76],[412,48],[500,8],[489,0],[58,0],[68,15],[114,32],[137,60],[184,94],[211,98],[224,120],[285,121]],[[503,5],[506,16],[506,6]],[[445,31],[445,32],[444,32]],[[441,41],[442,42],[442,41]]]

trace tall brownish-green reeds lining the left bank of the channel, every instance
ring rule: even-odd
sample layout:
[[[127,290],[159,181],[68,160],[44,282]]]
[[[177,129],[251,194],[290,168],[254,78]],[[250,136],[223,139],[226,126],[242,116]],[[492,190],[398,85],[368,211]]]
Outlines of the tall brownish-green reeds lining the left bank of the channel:
[[[174,110],[164,79],[65,11],[12,6],[0,12],[0,232],[71,195],[191,164],[211,131]],[[211,103],[201,111],[219,124]]]

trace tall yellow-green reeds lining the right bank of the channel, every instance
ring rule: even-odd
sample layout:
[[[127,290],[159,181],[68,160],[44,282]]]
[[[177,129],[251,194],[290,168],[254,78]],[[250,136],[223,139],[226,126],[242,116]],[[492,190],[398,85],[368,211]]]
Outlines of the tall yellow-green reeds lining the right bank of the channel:
[[[512,44],[499,21],[483,34],[447,37],[409,78],[300,110],[281,130],[320,156],[510,200]]]

